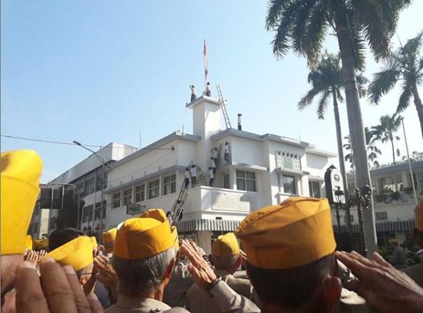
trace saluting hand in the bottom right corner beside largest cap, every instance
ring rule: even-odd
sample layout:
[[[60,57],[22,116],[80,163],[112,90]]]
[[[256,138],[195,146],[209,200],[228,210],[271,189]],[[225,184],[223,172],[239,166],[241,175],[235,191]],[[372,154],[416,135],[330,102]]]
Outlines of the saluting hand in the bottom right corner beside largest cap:
[[[422,312],[423,289],[407,274],[398,271],[375,252],[366,259],[357,252],[335,252],[360,281],[346,283],[346,288],[365,298],[377,312]]]

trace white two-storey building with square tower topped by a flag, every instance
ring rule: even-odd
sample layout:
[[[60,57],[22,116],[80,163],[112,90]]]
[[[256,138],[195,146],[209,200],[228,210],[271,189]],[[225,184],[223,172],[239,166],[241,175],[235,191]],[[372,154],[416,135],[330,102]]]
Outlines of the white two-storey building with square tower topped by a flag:
[[[199,97],[187,108],[193,111],[193,135],[172,133],[111,164],[106,228],[132,217],[127,215],[128,204],[169,211],[191,161],[201,168],[200,183],[189,188],[178,231],[196,238],[206,252],[212,238],[235,231],[255,209],[292,195],[324,196],[324,171],[336,154],[289,137],[224,129],[220,104],[210,97]],[[229,161],[223,157],[225,142]],[[215,147],[220,153],[210,187],[210,150]]]

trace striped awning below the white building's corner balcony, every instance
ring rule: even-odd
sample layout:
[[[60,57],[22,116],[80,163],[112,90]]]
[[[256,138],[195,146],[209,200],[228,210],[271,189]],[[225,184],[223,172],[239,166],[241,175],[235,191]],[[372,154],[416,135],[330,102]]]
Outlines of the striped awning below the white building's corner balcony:
[[[178,233],[191,231],[236,231],[241,221],[227,219],[187,219],[177,223]]]

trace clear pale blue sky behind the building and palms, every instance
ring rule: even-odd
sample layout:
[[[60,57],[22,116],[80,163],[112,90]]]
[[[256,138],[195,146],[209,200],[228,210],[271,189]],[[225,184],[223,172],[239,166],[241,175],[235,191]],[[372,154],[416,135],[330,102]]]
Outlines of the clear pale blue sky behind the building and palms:
[[[139,133],[143,146],[182,124],[191,133],[185,103],[188,85],[203,84],[206,39],[210,82],[222,87],[233,123],[243,113],[244,130],[301,137],[336,152],[332,107],[324,121],[315,105],[296,108],[310,87],[308,68],[293,54],[274,58],[266,10],[265,1],[1,1],[1,134],[138,147]],[[402,42],[422,30],[421,12],[423,1],[403,12]],[[326,47],[336,51],[333,36]],[[369,55],[367,77],[377,68]],[[365,125],[393,113],[397,99],[398,90],[379,106],[363,99]],[[410,150],[422,151],[414,104],[403,116]],[[347,135],[344,106],[341,120]],[[405,154],[404,141],[396,145]],[[380,161],[391,161],[390,146],[379,146]],[[42,156],[44,183],[89,155],[77,146],[1,137],[1,151],[22,148]]]

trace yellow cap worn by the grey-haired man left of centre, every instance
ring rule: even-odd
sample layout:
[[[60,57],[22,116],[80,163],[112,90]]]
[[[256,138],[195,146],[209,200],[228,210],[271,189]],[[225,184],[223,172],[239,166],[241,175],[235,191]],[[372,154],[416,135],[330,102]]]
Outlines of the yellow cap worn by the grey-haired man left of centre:
[[[121,259],[153,257],[173,247],[174,240],[165,212],[151,209],[140,217],[127,219],[118,229],[115,256]]]

